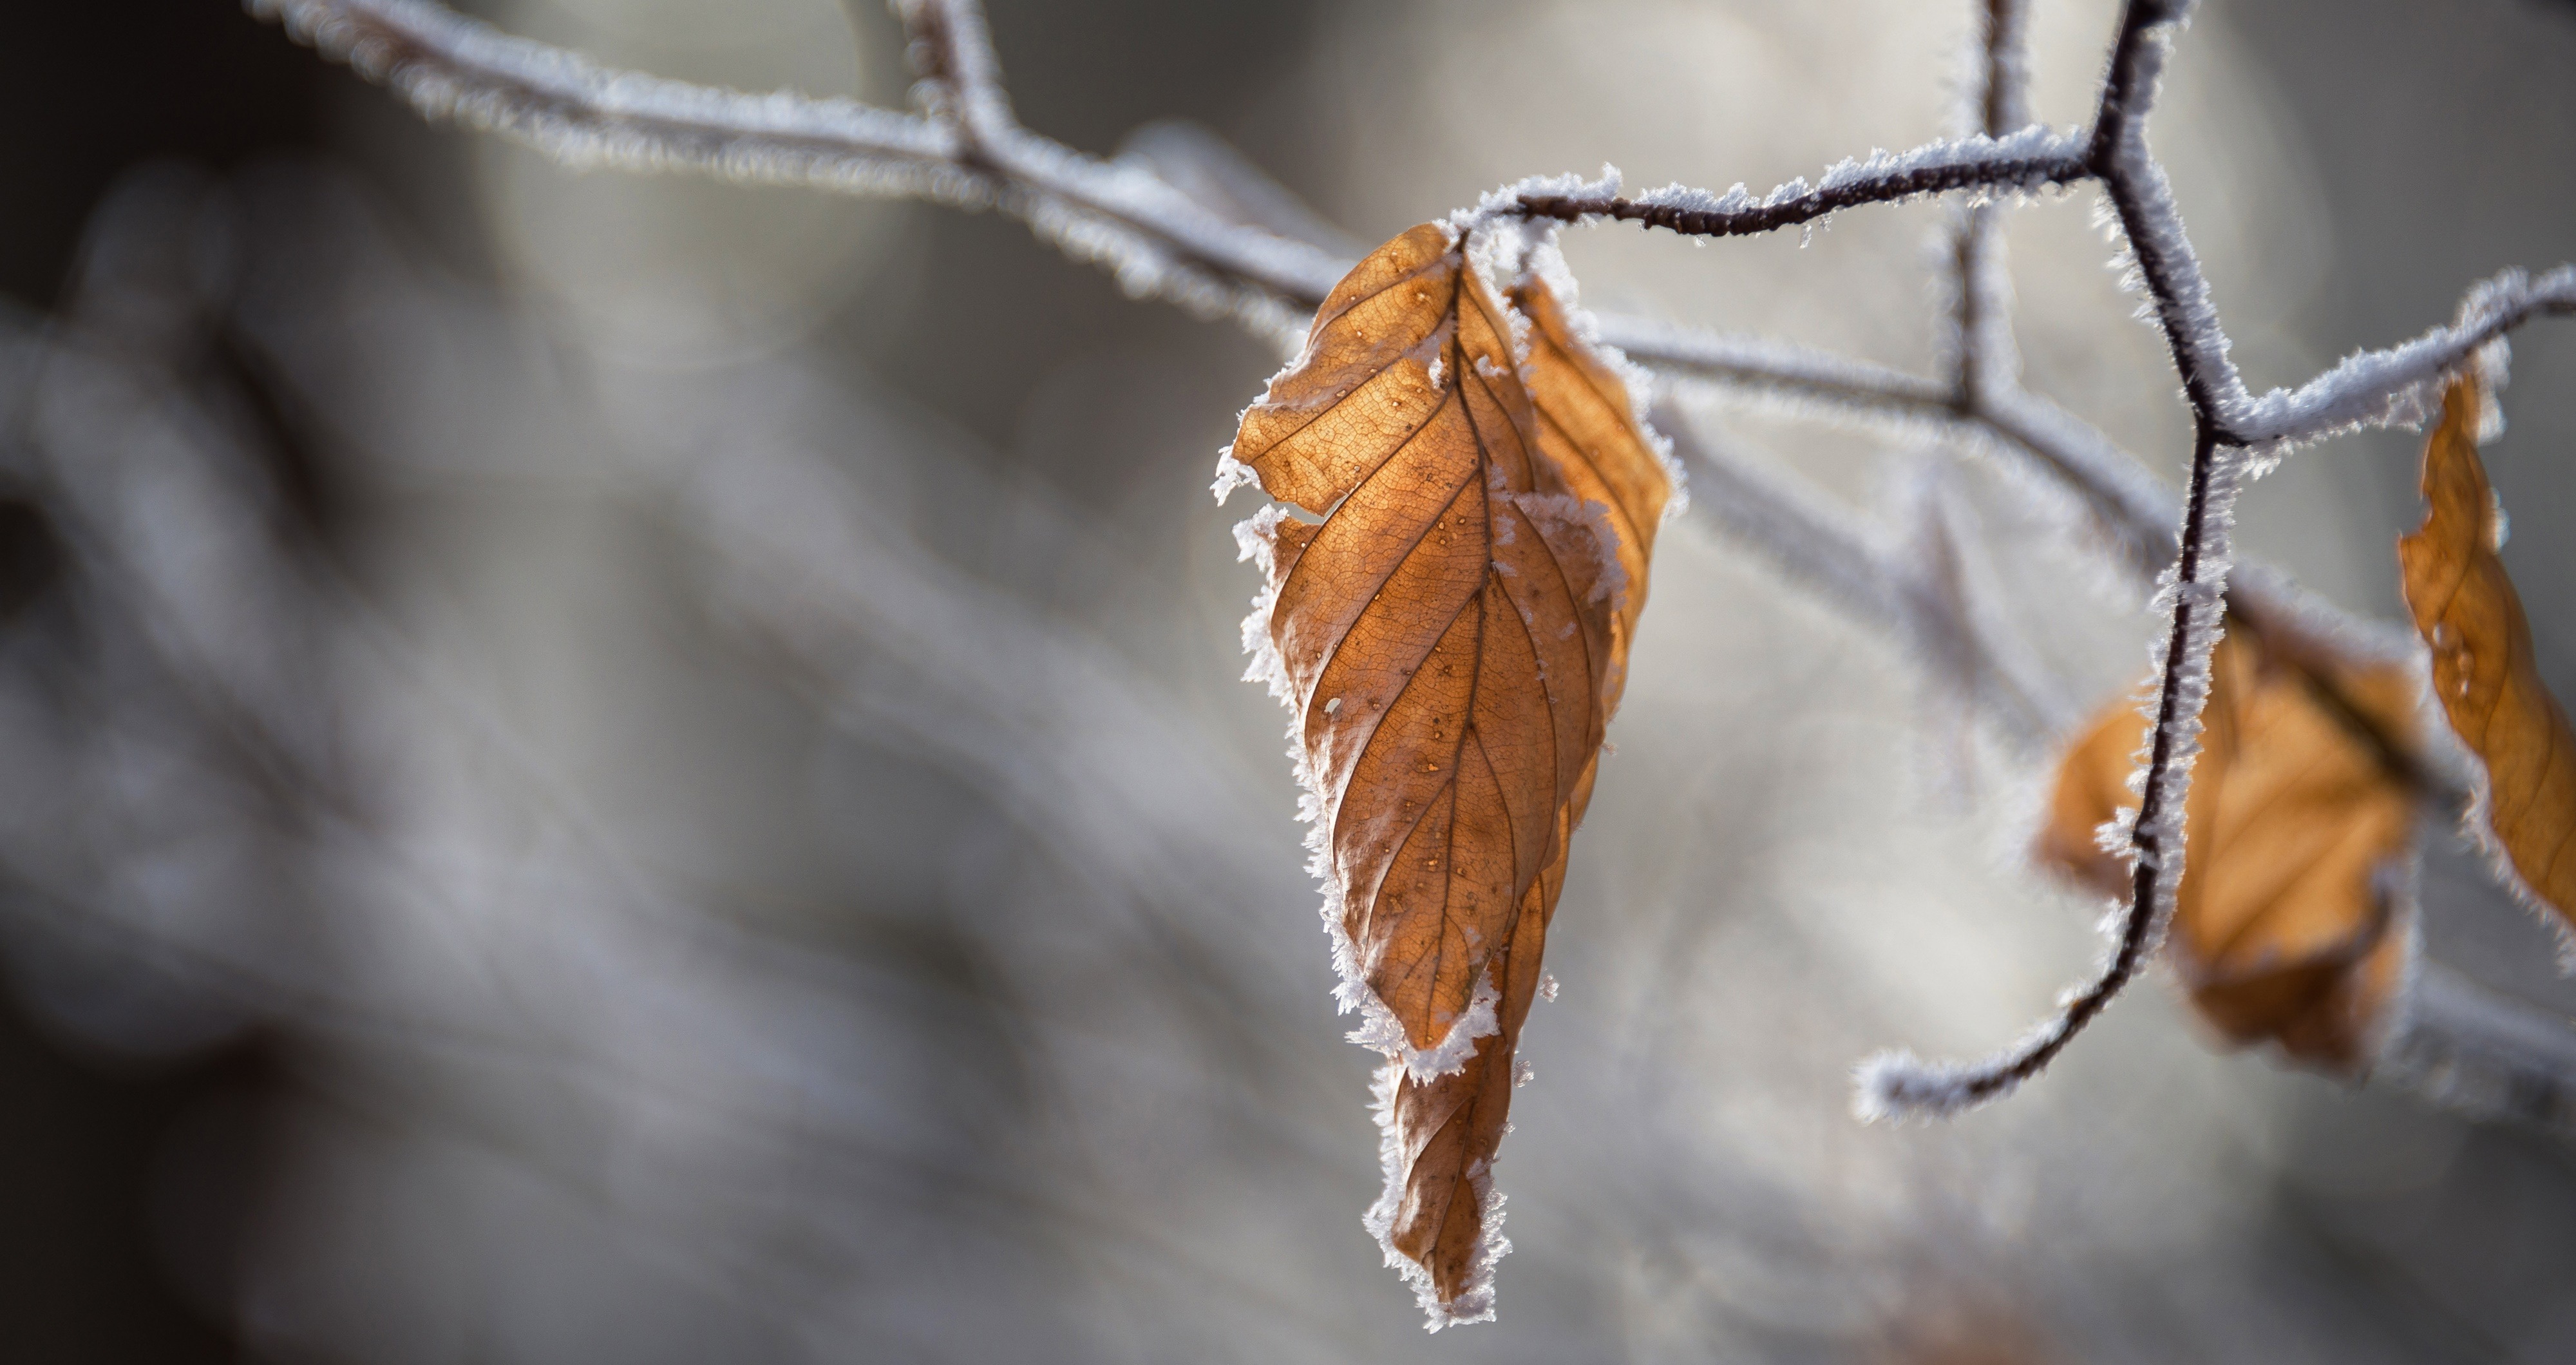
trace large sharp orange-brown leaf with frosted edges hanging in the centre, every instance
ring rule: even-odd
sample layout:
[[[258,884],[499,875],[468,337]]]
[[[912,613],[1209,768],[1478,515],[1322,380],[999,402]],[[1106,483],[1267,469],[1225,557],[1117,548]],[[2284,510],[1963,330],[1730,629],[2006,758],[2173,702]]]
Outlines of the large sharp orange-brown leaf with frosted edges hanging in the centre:
[[[1342,1002],[1388,1053],[1368,1223],[1435,1326],[1492,1311],[1520,1025],[1669,497],[1618,368],[1463,247],[1425,224],[1360,260],[1231,448],[1285,505],[1242,528],[1247,641],[1293,711]]]

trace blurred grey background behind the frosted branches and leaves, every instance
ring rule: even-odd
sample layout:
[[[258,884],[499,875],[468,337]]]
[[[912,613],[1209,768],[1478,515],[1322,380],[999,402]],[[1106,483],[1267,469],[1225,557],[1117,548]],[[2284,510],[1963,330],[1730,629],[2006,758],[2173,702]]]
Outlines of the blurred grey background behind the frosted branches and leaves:
[[[482,0],[662,75],[902,103],[866,0]],[[2576,1149],[2221,1053],[2166,981],[2020,1097],[1860,1128],[2097,950],[2043,757],[1682,520],[1515,1102],[1502,1321],[1360,1228],[1280,716],[1208,476],[1275,355],[1015,221],[574,175],[227,0],[0,44],[0,1339],[31,1362],[2576,1360]],[[1358,245],[1528,173],[1754,188],[1953,126],[1971,5],[992,0],[1020,116],[1182,118]],[[2110,0],[2038,0],[2087,116]],[[1172,136],[1170,129],[1149,136]],[[2210,0],[2156,118],[2249,384],[2576,258],[2576,5]],[[1942,214],[1592,306],[1929,371]],[[2030,384],[2184,412],[2092,196],[2009,219]],[[2488,448],[2576,695],[2576,327]],[[1708,410],[1901,533],[1937,451]],[[2401,610],[2419,438],[2241,538]],[[1994,484],[1986,466],[1973,479]],[[1984,487],[1981,484],[1981,487]],[[2076,711],[2146,623],[1973,497]],[[2576,1012],[2427,834],[2429,953]]]

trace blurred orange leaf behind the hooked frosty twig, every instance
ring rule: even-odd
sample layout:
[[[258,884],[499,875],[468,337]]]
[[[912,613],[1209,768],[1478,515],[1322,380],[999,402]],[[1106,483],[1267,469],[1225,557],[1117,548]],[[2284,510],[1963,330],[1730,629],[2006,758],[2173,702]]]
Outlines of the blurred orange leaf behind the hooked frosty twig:
[[[2352,1074],[2370,1059],[2414,935],[2393,873],[2414,855],[2414,682],[2398,664],[2306,672],[2231,618],[2210,659],[2202,752],[2184,804],[2172,958],[2231,1043],[2264,1038]],[[2115,703],[2066,749],[2038,855],[2125,896],[2094,842],[2117,811],[2146,716]]]

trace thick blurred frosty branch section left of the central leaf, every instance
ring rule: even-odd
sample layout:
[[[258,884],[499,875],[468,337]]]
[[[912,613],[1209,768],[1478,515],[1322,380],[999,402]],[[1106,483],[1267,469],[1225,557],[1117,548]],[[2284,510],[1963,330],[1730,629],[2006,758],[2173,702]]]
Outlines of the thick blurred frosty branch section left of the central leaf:
[[[904,5],[930,116],[788,90],[744,95],[600,67],[430,0],[250,0],[325,57],[404,95],[430,118],[497,131],[567,165],[703,170],[729,180],[1002,209],[1136,296],[1296,330],[1347,263],[1231,224],[1151,170],[1084,157],[1010,121],[981,13]]]

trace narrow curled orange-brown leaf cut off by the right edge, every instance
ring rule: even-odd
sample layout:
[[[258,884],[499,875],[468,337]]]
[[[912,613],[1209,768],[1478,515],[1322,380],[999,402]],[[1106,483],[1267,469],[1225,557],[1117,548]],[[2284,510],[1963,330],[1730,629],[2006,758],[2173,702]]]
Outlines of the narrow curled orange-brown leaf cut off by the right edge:
[[[2432,646],[2432,688],[2486,773],[2481,816],[2522,886],[2576,922],[2576,734],[2540,682],[2532,626],[2496,559],[2499,513],[2478,461],[2476,379],[2442,394],[2424,443],[2424,525],[2398,536],[2406,608]]]

